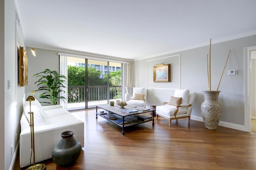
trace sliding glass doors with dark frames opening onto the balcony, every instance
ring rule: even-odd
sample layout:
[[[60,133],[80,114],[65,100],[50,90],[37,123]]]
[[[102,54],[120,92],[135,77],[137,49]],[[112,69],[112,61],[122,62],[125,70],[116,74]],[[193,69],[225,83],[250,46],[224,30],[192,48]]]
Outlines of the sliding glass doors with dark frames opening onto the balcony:
[[[68,110],[122,98],[122,64],[68,57]]]

